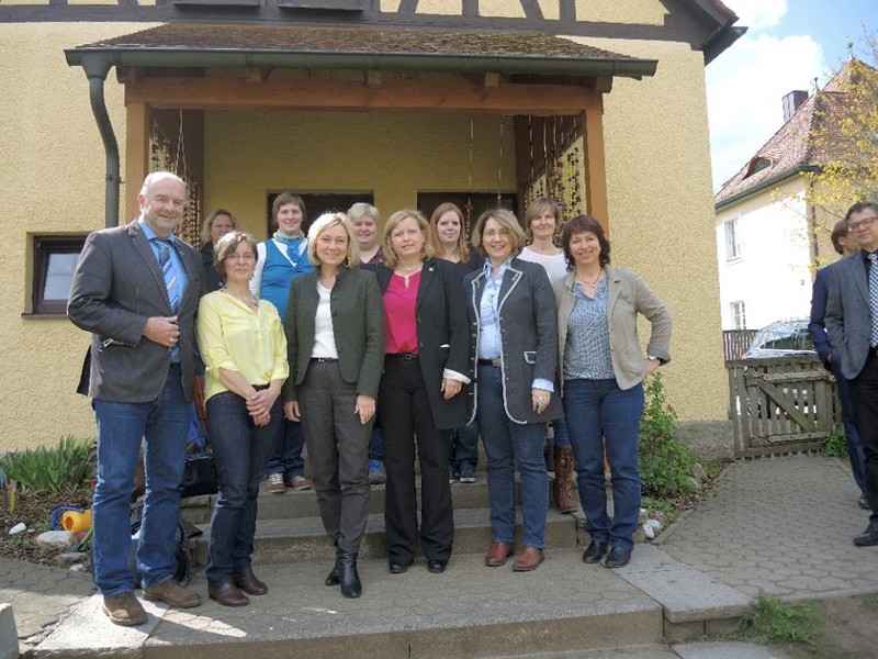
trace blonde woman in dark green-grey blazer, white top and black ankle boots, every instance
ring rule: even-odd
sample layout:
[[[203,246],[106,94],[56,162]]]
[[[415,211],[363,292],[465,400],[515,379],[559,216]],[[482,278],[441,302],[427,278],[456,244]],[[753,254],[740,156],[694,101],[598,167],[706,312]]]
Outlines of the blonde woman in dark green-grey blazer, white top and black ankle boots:
[[[362,593],[357,554],[369,516],[368,447],[384,361],[384,319],[373,272],[357,268],[350,220],[326,213],[308,231],[316,271],[293,280],[286,311],[286,418],[301,421],[336,563],[326,585]]]

